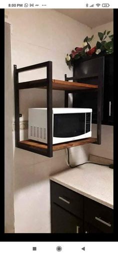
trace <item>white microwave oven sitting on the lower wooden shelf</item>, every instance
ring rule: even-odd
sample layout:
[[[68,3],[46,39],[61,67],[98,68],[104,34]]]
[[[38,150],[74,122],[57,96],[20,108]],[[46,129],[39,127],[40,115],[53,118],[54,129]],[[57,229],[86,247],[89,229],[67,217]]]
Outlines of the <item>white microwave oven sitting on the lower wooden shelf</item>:
[[[91,137],[88,108],[52,108],[52,144]],[[47,109],[28,109],[28,139],[47,144]]]

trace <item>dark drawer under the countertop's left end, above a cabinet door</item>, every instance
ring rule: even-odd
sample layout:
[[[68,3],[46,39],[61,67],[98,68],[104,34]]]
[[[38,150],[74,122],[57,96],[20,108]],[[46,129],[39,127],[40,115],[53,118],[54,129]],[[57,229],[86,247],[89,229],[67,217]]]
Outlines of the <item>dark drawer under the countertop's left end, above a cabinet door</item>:
[[[73,213],[79,218],[83,218],[83,196],[50,181],[51,188],[51,202],[60,205],[62,208]]]

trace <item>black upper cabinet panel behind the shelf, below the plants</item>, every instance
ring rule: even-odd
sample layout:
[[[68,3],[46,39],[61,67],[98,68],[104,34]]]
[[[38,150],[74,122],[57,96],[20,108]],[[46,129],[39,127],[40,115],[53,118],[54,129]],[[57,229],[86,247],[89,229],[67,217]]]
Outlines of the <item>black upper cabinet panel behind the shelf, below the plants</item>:
[[[94,58],[85,61],[76,61],[73,67],[73,77],[75,81],[98,85],[99,78],[102,87],[101,96],[101,119],[103,120],[103,82],[104,82],[104,57]],[[80,90],[73,92],[73,107],[74,108],[92,108],[92,123],[97,122],[97,90]]]

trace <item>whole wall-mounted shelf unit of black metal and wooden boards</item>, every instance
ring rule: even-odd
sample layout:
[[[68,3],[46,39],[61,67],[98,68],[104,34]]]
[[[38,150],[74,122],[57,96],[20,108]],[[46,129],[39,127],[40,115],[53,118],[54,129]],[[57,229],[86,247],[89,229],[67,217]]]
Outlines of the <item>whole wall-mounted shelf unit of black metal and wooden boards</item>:
[[[46,78],[27,81],[27,82],[18,82],[18,73],[25,72],[28,70],[46,68]],[[52,145],[52,90],[63,90],[65,91],[65,107],[68,107],[68,93],[76,92],[79,90],[92,89],[98,90],[97,85],[91,85],[86,83],[77,83],[69,82],[68,80],[74,80],[74,78],[66,78],[65,81],[52,79],[52,62],[44,62],[36,65],[23,67],[20,69],[16,68],[14,65],[14,99],[15,99],[15,146],[24,150],[28,150],[37,154],[44,156],[52,157],[52,152],[60,149],[65,149],[69,147],[75,147],[87,143],[96,143],[100,144],[100,134],[97,138],[86,138],[77,141],[70,141],[65,143],[60,143]],[[19,90],[29,89],[29,88],[40,88],[46,89],[47,91],[47,145],[36,142],[33,140],[23,140],[19,139]],[[98,92],[100,92],[98,90]],[[100,119],[99,119],[100,121]],[[98,124],[100,125],[100,123]],[[98,126],[100,127],[100,126]]]

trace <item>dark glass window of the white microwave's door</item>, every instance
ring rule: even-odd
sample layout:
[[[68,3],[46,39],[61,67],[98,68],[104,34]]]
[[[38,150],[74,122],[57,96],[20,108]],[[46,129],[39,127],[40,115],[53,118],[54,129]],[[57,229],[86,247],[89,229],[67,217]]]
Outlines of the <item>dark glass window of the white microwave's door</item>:
[[[69,138],[85,133],[85,113],[54,114],[53,137]]]

